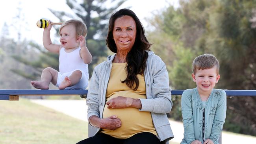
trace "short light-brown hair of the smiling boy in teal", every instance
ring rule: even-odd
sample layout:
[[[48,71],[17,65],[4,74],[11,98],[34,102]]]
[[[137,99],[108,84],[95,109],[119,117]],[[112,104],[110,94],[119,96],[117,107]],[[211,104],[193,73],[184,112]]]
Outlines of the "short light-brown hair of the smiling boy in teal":
[[[216,66],[216,73],[219,74],[219,61],[212,54],[203,54],[196,57],[193,61],[193,73],[197,70],[205,70]]]

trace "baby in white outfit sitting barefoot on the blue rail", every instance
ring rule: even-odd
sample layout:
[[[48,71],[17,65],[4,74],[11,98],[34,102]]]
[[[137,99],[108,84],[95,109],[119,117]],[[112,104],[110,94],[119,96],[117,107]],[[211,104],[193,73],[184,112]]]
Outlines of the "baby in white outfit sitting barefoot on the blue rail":
[[[45,68],[40,81],[31,81],[37,89],[49,89],[49,84],[59,89],[85,89],[88,85],[88,64],[92,56],[85,44],[86,25],[76,19],[67,20],[60,29],[60,43],[52,44],[50,30],[52,24],[43,32],[43,45],[46,50],[59,54],[59,72],[53,68]]]

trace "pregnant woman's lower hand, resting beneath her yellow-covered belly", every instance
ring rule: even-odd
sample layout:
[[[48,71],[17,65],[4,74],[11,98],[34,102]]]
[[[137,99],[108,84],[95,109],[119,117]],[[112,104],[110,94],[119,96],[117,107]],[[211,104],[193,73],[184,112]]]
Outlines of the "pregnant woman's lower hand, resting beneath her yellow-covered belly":
[[[109,116],[108,118],[100,119],[100,128],[115,130],[121,127],[122,122],[117,116]]]

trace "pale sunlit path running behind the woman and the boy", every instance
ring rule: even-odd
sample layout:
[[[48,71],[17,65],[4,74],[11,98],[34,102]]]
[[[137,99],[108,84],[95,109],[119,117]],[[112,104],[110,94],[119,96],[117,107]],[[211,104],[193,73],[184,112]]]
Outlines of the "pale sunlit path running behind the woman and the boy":
[[[88,122],[87,105],[85,104],[85,100],[31,100],[31,102],[49,107],[61,113]],[[174,138],[171,141],[180,143],[184,133],[183,124],[173,120],[170,120],[170,124],[174,134]],[[256,137],[225,131],[222,132],[222,144],[253,143],[256,143]]]

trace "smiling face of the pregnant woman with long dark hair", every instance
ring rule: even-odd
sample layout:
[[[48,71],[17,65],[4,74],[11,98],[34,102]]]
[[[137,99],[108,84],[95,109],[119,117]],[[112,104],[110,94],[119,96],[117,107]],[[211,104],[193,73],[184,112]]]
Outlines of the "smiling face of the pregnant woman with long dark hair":
[[[130,51],[136,39],[136,23],[130,16],[117,18],[114,23],[113,39],[117,51]]]

